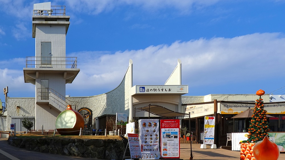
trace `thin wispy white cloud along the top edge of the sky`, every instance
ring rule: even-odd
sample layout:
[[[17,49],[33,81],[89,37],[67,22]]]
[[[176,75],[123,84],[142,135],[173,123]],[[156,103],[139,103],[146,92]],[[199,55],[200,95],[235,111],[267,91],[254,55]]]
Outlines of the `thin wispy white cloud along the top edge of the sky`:
[[[104,1],[86,1],[86,0],[58,0],[56,2],[64,3],[73,11],[97,15],[102,12],[110,12],[115,8],[119,9],[124,6],[133,6],[143,8],[146,11],[157,11],[160,9],[176,9],[180,13],[189,13],[193,8],[201,9],[217,3],[219,0],[104,0]]]

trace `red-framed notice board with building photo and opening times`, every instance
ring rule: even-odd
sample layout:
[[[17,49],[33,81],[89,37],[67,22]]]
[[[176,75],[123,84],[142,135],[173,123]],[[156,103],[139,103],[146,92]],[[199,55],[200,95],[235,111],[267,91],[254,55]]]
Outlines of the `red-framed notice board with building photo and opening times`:
[[[180,120],[160,120],[160,151],[162,158],[180,157]]]

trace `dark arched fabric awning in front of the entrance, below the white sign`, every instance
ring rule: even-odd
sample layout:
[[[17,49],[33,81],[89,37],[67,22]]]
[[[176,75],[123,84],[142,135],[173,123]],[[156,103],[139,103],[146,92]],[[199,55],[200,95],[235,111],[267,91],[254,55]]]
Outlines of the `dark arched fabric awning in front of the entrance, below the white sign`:
[[[152,105],[152,104],[148,106],[136,108],[135,112],[139,112],[143,110],[151,114],[154,114],[156,116],[162,116],[162,117],[177,117],[177,116],[188,115],[186,113],[175,112],[163,106]]]

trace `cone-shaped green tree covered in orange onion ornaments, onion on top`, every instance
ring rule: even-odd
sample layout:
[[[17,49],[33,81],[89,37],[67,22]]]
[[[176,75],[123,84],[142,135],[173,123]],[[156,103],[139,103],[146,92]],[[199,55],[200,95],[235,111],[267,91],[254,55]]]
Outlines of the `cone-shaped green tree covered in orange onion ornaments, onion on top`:
[[[256,92],[259,99],[255,100],[255,107],[253,109],[253,115],[251,116],[251,121],[248,128],[248,140],[243,142],[256,143],[263,140],[263,138],[268,135],[267,132],[269,132],[270,129],[268,127],[268,120],[266,117],[267,111],[264,109],[263,99],[261,98],[264,93],[265,92],[261,89]]]

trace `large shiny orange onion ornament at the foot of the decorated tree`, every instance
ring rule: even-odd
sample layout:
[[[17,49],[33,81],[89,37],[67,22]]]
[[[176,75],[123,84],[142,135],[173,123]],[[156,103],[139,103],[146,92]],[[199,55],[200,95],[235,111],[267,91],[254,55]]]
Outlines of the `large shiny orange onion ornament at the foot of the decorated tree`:
[[[255,143],[253,155],[256,160],[277,160],[279,157],[279,148],[265,136],[262,141]]]

